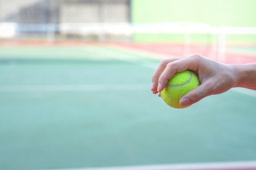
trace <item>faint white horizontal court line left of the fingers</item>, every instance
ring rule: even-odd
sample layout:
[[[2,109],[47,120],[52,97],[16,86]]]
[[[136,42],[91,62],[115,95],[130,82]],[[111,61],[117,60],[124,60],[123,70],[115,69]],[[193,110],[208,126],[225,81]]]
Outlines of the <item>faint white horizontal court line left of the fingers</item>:
[[[75,92],[75,91],[148,91],[151,84],[70,84],[0,86],[0,93]]]

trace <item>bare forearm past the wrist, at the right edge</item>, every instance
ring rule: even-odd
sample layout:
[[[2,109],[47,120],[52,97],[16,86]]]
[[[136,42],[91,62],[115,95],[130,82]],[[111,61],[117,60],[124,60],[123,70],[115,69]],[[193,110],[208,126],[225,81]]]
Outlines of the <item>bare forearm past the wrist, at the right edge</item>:
[[[234,68],[236,83],[234,87],[243,87],[256,90],[256,63],[231,64]]]

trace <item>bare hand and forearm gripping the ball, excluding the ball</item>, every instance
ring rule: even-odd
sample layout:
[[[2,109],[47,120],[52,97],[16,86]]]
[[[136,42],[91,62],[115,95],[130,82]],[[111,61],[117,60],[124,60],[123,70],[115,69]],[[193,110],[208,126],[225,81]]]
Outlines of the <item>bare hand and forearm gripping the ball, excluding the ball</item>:
[[[223,64],[200,54],[191,54],[162,60],[152,76],[151,91],[159,95],[167,81],[184,70],[196,72],[200,86],[180,99],[181,106],[189,106],[234,87],[256,90],[256,63]]]

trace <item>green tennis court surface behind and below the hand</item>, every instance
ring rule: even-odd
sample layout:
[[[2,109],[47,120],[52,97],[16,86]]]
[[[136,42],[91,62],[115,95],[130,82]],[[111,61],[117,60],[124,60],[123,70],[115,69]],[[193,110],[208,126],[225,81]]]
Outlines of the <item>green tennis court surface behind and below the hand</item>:
[[[110,46],[0,46],[0,170],[256,160],[256,92],[171,108],[150,91],[160,60]]]

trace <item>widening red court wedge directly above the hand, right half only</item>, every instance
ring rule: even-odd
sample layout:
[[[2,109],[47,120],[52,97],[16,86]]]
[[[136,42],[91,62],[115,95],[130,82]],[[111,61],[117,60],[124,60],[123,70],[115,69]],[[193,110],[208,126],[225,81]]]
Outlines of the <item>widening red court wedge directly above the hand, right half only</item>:
[[[218,50],[217,45],[211,44],[132,44],[123,43],[119,46],[148,52],[156,52],[170,56],[184,56],[199,53],[219,62],[227,64],[245,64],[256,62],[256,44],[226,46]],[[243,50],[245,49],[245,50]],[[246,49],[251,49],[249,52]]]

